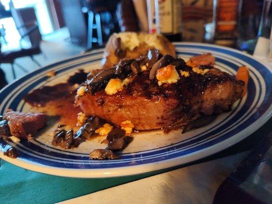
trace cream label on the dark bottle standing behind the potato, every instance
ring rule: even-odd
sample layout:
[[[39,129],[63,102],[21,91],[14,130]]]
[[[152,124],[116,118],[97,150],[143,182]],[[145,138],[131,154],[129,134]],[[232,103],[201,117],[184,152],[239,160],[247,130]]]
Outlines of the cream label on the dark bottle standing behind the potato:
[[[182,32],[181,0],[156,0],[156,25],[161,34]]]

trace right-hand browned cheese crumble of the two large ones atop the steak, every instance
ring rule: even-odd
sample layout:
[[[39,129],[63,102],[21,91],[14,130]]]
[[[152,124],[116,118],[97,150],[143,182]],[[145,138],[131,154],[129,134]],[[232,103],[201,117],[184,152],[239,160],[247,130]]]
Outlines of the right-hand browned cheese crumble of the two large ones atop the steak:
[[[180,79],[180,76],[176,70],[176,67],[173,65],[167,65],[158,69],[156,78],[158,80],[159,86],[163,83],[175,84]]]

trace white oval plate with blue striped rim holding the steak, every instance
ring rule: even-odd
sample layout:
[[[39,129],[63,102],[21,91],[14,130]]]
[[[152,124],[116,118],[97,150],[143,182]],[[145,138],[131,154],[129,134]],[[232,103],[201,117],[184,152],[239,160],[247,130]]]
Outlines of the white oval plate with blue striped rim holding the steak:
[[[187,60],[193,55],[210,52],[216,57],[215,67],[235,74],[239,66],[250,68],[248,94],[234,104],[232,111],[219,115],[210,124],[185,134],[180,131],[164,135],[161,131],[135,135],[129,146],[120,152],[120,159],[89,160],[93,148],[104,148],[97,140],[82,143],[78,148],[62,150],[50,144],[52,130],[39,135],[31,142],[10,142],[19,157],[3,155],[4,143],[0,141],[0,157],[17,166],[42,173],[71,177],[112,177],[139,174],[192,162],[239,142],[256,131],[271,116],[272,74],[265,65],[250,55],[237,50],[201,43],[176,43],[177,54]],[[65,82],[78,69],[90,71],[100,67],[103,50],[73,57],[31,72],[13,82],[0,92],[0,114],[8,108],[28,112],[32,108],[22,97],[44,85]],[[55,70],[48,78],[46,73]]]

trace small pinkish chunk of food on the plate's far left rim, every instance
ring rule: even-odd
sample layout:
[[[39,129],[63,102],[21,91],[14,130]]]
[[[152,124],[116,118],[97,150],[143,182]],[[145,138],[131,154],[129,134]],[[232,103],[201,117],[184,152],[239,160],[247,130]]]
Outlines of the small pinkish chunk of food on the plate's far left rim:
[[[22,139],[27,139],[29,134],[35,134],[46,125],[46,115],[43,113],[10,111],[4,118],[8,120],[11,135]]]

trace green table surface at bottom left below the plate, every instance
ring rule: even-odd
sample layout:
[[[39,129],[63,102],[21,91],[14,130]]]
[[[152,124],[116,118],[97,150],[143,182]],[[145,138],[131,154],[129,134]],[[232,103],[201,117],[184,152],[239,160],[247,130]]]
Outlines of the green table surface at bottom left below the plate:
[[[1,160],[0,203],[55,203],[152,174],[154,172],[109,179],[73,179],[29,171]]]

